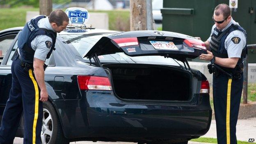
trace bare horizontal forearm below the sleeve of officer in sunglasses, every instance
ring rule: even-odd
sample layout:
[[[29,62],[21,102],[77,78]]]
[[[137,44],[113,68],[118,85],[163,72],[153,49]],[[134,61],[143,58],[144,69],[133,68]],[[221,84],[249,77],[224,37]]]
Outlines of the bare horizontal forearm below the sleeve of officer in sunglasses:
[[[239,60],[239,57],[232,57],[232,58],[215,58],[215,63],[219,64],[220,66],[224,66],[227,68],[235,68],[237,62]]]

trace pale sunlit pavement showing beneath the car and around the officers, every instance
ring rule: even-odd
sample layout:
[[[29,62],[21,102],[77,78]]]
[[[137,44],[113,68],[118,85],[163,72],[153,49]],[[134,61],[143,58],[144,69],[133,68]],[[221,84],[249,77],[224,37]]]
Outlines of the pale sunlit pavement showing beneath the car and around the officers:
[[[237,130],[236,137],[240,141],[248,142],[250,138],[256,139],[256,117],[250,118],[250,119],[238,119],[236,130]],[[203,135],[202,137],[217,138],[215,120],[212,120],[210,130],[206,133],[206,135]],[[16,137],[14,139],[14,144],[23,144],[23,139]],[[137,143],[80,141],[80,142],[71,142],[70,144],[137,144]],[[207,143],[189,142],[188,144],[207,144]]]

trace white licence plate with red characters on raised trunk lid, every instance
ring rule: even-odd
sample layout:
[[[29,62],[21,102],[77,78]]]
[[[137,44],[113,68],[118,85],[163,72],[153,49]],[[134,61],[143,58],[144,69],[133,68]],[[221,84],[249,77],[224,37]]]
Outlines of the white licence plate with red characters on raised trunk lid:
[[[172,41],[149,41],[155,49],[178,50]]]

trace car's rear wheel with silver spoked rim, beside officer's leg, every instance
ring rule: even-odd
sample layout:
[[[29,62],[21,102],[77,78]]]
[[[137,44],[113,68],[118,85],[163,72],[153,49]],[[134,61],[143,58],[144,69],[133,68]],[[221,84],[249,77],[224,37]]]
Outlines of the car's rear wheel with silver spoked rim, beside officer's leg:
[[[57,112],[49,101],[43,102],[41,141],[42,144],[69,144],[63,135]]]

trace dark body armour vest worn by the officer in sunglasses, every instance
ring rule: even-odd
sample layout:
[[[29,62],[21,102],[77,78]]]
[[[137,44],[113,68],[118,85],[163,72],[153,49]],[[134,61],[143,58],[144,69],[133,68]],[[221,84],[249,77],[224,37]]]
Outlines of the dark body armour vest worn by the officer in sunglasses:
[[[229,57],[228,52],[225,48],[225,40],[226,40],[227,36],[234,30],[242,31],[245,34],[245,37],[247,38],[247,34],[246,34],[245,30],[239,25],[231,24],[231,26],[229,26],[223,32],[220,32],[217,29],[217,27],[214,28],[214,32],[211,35],[210,50],[215,57],[221,57],[221,58]],[[246,54],[247,54],[247,45],[245,45],[245,48],[243,48],[241,57],[238,60],[238,63],[234,69],[226,68],[226,67],[219,66],[219,65],[218,66],[221,67],[226,72],[234,73],[234,71],[236,69],[240,69],[240,67],[241,67],[240,65],[243,63],[243,58],[246,56]]]

